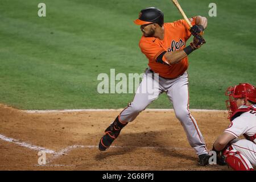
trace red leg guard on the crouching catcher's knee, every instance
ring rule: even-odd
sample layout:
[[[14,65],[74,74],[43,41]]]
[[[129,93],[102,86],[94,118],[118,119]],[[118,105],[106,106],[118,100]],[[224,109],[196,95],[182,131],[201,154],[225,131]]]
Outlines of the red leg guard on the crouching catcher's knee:
[[[240,152],[236,150],[230,150],[230,151],[226,151],[226,154],[224,155],[226,157],[225,162],[232,169],[234,169],[234,171],[254,171],[250,161],[245,156],[243,156]]]

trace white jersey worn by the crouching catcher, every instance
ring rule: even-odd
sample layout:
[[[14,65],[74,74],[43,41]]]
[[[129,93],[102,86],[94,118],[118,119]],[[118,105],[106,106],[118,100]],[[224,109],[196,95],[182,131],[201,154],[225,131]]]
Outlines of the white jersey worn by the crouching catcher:
[[[256,105],[253,107],[256,108]],[[238,138],[242,134],[246,134],[249,137],[256,134],[256,111],[250,110],[242,113],[239,117],[235,118],[229,125],[228,129],[224,132],[228,132],[234,137]],[[256,139],[254,140],[256,143]]]

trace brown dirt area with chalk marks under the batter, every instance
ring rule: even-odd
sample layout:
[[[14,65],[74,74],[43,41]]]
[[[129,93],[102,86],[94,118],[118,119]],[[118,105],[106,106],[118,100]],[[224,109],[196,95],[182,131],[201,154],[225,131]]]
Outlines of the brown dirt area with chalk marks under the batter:
[[[183,127],[171,111],[143,111],[113,147],[98,142],[119,111],[26,113],[0,105],[1,170],[230,170],[197,166]],[[208,150],[228,125],[225,111],[192,112]],[[41,147],[41,148],[40,148]],[[46,150],[46,165],[38,152]]]

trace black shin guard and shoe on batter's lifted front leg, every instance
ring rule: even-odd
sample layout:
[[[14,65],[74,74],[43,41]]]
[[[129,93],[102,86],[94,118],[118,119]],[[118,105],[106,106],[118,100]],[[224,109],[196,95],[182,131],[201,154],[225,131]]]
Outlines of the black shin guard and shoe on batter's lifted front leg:
[[[105,130],[105,134],[101,138],[100,143],[98,144],[98,149],[100,151],[107,150],[114,142],[114,140],[118,137],[122,128],[126,125],[127,123],[121,123],[118,117],[115,118],[115,121],[111,123],[111,125]]]

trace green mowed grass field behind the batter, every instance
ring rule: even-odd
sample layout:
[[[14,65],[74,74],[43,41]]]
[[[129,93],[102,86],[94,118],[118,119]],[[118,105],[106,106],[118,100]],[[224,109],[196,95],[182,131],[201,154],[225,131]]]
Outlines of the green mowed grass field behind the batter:
[[[39,18],[38,4],[46,3]],[[225,109],[225,89],[256,84],[254,0],[180,0],[188,16],[208,18],[205,44],[189,55],[192,109]],[[134,94],[98,94],[99,73],[142,73],[147,59],[133,23],[155,6],[165,22],[181,19],[171,1],[1,0],[0,102],[19,109],[122,108]],[[163,94],[149,108],[170,108]]]

